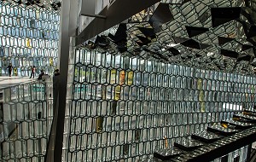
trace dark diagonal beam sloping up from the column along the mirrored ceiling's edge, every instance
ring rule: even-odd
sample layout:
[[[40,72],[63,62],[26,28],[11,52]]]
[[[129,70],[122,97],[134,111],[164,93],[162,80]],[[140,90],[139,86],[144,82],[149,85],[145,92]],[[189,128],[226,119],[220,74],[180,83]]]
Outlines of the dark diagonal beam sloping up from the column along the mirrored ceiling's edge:
[[[76,39],[76,45],[84,43],[86,40],[159,2],[160,0],[116,0],[109,8],[107,6],[99,13],[99,15],[106,17],[106,19],[95,18],[85,27],[84,31]]]

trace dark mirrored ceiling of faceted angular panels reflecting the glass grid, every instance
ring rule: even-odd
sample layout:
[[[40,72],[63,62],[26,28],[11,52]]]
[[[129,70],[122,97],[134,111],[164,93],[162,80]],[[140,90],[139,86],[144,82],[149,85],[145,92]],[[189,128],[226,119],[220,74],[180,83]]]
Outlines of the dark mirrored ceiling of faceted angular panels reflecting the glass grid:
[[[256,67],[256,0],[162,0],[84,43],[87,49],[224,72]]]

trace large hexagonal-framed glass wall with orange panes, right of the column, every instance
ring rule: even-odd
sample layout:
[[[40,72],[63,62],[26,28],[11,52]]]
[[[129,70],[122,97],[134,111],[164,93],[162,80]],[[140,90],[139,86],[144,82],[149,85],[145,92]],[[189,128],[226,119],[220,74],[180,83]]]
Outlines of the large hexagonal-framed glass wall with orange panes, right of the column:
[[[255,104],[256,79],[77,49],[67,161],[136,161]]]

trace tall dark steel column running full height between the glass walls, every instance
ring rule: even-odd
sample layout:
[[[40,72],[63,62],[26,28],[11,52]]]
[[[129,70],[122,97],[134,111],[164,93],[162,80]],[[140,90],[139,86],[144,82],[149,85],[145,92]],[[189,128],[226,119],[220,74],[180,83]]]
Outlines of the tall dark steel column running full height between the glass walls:
[[[60,20],[60,39],[59,39],[59,65],[61,75],[58,77],[60,79],[58,88],[58,97],[56,98],[56,107],[54,113],[53,124],[51,128],[51,133],[49,137],[49,144],[47,148],[47,154],[45,161],[47,162],[61,162],[62,159],[62,146],[63,146],[63,133],[64,133],[64,121],[65,121],[65,110],[67,106],[67,75],[68,75],[68,65],[70,61],[70,53],[72,52],[72,47],[74,41],[69,34],[73,35],[75,25],[73,23],[76,20],[71,20],[73,17],[71,3],[74,0],[62,0],[61,1],[61,20]],[[77,16],[76,16],[77,17]]]

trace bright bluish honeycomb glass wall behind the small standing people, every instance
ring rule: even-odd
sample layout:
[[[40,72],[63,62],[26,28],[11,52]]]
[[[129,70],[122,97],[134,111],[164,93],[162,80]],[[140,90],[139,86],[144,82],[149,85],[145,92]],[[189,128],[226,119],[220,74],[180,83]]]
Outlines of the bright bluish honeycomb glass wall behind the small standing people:
[[[57,65],[59,21],[57,11],[0,3],[0,75],[29,76],[31,67],[37,73],[51,74]]]

